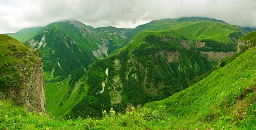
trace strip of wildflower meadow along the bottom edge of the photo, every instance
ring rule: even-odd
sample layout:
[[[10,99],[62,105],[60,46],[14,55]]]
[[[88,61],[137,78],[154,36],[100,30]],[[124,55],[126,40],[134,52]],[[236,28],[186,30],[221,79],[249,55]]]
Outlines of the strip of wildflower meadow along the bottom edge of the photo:
[[[255,106],[254,106],[255,107]],[[195,115],[189,114],[171,114],[166,113],[163,106],[156,109],[141,108],[132,109],[126,114],[120,114],[115,110],[103,111],[101,119],[92,119],[91,117],[77,118],[72,117],[58,118],[51,117],[48,114],[39,114],[27,112],[23,107],[16,106],[9,100],[0,100],[0,129],[43,129],[43,130],[170,130],[170,129],[255,129],[256,108],[252,108],[244,123],[232,120],[229,116],[223,116],[215,121],[202,121],[206,117],[203,115],[200,119]],[[204,109],[207,114],[207,109]]]

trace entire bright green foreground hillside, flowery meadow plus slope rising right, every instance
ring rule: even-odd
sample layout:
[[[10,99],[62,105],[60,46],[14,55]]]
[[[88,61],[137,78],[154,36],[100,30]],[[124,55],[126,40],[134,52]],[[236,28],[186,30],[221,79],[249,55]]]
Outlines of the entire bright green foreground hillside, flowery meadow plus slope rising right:
[[[106,109],[101,119],[36,116],[0,99],[1,129],[256,129],[256,48],[231,60],[207,78],[162,101],[117,113]],[[233,59],[233,58],[232,58]],[[109,111],[110,110],[110,111]]]

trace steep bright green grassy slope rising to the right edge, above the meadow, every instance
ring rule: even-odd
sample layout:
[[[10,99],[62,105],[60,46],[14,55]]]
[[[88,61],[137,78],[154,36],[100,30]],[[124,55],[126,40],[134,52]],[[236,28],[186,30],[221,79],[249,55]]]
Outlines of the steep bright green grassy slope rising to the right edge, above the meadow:
[[[199,83],[162,101],[147,103],[144,108],[162,106],[175,117],[188,115],[191,121],[216,127],[229,128],[238,123],[241,128],[255,128],[255,54],[256,48],[249,50]]]

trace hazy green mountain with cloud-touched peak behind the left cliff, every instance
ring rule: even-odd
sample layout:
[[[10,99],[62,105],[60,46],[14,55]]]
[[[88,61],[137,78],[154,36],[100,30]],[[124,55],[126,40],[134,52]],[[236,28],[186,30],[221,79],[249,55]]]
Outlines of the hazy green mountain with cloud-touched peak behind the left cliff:
[[[75,69],[85,67],[99,59],[108,56],[112,50],[122,47],[120,33],[108,30],[110,36],[97,34],[83,23],[71,20],[54,22],[47,25],[31,40],[27,41],[34,49],[39,49],[44,59],[45,81],[56,82],[67,78]],[[123,38],[116,40],[117,38]]]

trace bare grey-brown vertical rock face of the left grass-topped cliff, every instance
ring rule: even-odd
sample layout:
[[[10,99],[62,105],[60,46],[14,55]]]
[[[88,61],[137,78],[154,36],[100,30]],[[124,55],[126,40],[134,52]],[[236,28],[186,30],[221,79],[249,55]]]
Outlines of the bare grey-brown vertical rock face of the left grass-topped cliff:
[[[19,90],[20,101],[25,104],[28,111],[45,114],[45,78],[42,59],[36,60],[29,70],[30,74],[27,74],[27,78],[23,78],[24,86]]]

